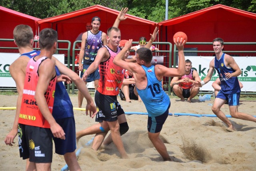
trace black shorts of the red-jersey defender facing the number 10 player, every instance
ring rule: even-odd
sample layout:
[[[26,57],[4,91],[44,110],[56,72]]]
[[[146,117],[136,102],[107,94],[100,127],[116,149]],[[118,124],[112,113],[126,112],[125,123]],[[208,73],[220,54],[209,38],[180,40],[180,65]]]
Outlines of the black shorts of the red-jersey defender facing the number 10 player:
[[[119,115],[124,114],[124,110],[117,101],[116,95],[104,95],[96,91],[95,103],[99,109],[95,118],[96,122],[116,121]]]

